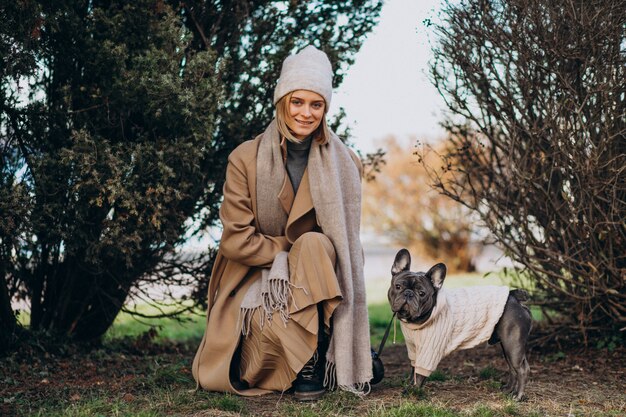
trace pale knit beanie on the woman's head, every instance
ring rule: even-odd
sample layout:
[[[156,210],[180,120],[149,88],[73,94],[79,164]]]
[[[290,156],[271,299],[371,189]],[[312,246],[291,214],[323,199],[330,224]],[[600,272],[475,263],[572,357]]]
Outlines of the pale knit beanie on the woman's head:
[[[324,97],[326,109],[333,96],[333,69],[326,54],[309,45],[295,55],[285,58],[280,78],[274,90],[274,104],[285,94],[309,90]]]

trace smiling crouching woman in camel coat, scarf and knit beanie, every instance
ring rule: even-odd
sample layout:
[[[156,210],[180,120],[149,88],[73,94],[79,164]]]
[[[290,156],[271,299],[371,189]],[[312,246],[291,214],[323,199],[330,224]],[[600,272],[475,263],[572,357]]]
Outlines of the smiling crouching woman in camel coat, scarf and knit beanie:
[[[328,57],[283,62],[276,118],[228,159],[222,239],[193,376],[207,390],[300,400],[372,378],[359,240],[361,163],[326,123]]]

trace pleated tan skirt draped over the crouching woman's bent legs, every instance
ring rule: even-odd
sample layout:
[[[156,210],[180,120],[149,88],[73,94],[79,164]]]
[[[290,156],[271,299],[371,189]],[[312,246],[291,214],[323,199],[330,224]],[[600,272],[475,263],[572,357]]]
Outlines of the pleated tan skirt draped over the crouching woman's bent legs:
[[[261,327],[257,311],[250,334],[241,342],[240,378],[250,387],[272,391],[289,389],[317,347],[320,331],[317,304],[322,303],[324,324],[328,329],[333,311],[341,301],[335,275],[335,249],[325,235],[303,234],[294,242],[288,258],[290,283],[293,284],[290,320],[285,325],[276,316],[271,324],[266,322]]]

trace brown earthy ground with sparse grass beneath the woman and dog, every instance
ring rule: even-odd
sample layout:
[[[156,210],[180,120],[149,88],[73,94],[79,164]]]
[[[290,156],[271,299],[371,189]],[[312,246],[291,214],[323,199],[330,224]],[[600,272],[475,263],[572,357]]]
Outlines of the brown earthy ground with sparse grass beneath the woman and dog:
[[[240,398],[194,392],[195,343],[137,339],[92,350],[29,345],[0,359],[0,415],[191,416],[618,416],[626,414],[626,350],[529,354],[526,399],[499,391],[506,364],[480,346],[446,358],[424,390],[406,389],[402,344],[383,353],[386,376],[358,398],[333,392],[313,404],[292,395]]]

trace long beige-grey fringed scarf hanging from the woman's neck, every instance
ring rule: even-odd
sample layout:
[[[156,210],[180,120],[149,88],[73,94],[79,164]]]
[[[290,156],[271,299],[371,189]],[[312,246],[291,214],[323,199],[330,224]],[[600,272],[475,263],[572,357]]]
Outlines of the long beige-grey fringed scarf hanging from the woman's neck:
[[[337,254],[335,272],[343,295],[333,313],[324,384],[363,393],[369,390],[372,359],[360,240],[361,179],[349,151],[334,133],[326,145],[311,145],[308,174],[318,222]],[[285,175],[274,120],[263,133],[257,154],[257,221],[264,234],[285,234],[287,214],[278,200]],[[272,267],[280,269],[284,265]],[[255,297],[256,303],[263,298],[258,293]]]

